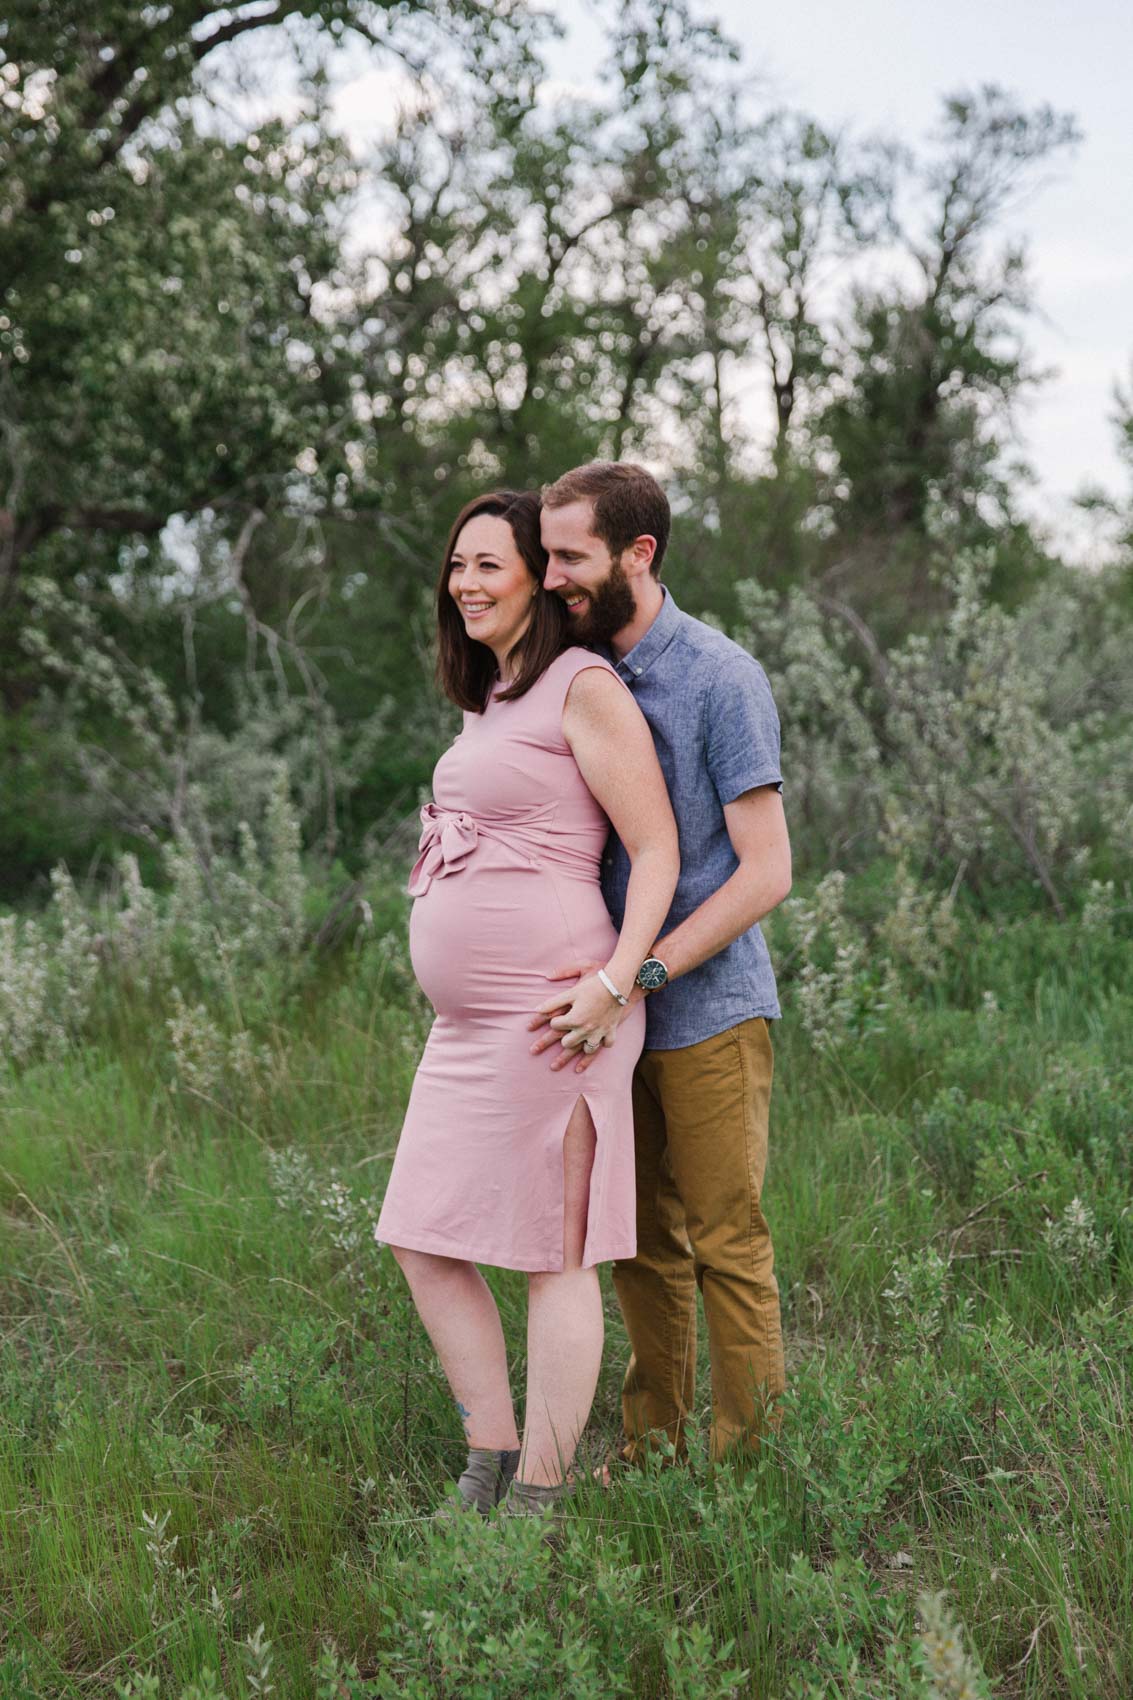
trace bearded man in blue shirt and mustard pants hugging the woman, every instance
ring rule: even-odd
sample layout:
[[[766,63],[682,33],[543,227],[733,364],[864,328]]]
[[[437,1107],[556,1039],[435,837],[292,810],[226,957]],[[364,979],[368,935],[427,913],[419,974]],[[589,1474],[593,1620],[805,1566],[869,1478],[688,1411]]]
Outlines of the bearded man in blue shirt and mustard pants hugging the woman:
[[[646,1000],[633,1081],[636,1256],[614,1263],[631,1358],[623,1384],[636,1464],[665,1436],[684,1454],[694,1411],[696,1287],[711,1360],[709,1455],[757,1445],[784,1387],[779,1289],[762,1212],[776,979],[759,921],[791,889],[779,719],[745,649],[682,614],[660,581],[670,532],[645,468],[597,461],[543,490],[544,590],[566,604],[575,643],[601,648],[633,690],[660,758],[680,836],[669,918],[623,1010]],[[621,925],[629,860],[611,836],[602,891]],[[575,979],[597,964],[558,964]],[[532,1015],[551,1068],[601,1068],[561,1046],[563,1000]]]

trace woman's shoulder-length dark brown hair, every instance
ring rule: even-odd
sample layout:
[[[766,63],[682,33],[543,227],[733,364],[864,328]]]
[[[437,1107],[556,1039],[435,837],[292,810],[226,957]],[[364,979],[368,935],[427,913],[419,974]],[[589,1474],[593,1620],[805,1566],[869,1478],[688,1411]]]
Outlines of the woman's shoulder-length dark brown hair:
[[[492,490],[468,502],[453,522],[444,546],[441,580],[437,583],[437,683],[461,709],[483,714],[492,685],[497,678],[495,656],[483,643],[475,643],[464,631],[456,602],[449,593],[449,571],[456,539],[478,513],[507,520],[527,571],[538,583],[531,604],[531,626],[512,648],[517,672],[500,702],[522,697],[543,677],[556,654],[566,648],[566,609],[558,597],[543,590],[546,554],[539,541],[539,496],[534,490]]]

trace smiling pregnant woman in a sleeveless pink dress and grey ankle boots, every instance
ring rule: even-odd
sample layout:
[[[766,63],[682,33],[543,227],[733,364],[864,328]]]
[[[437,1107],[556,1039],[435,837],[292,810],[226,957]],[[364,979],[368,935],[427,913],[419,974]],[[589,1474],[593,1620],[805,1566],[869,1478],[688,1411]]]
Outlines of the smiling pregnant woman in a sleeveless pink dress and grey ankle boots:
[[[436,1010],[376,1227],[401,1266],[456,1399],[468,1467],[454,1508],[548,1515],[602,1357],[599,1263],[631,1256],[629,1080],[645,1037],[621,1022],[677,881],[677,830],[648,726],[543,590],[539,500],[471,502],[437,585],[439,680],[464,726],[434,772],[410,877],[413,972]],[[599,887],[609,824],[633,874],[616,933]],[[551,1071],[531,1012],[560,960],[604,969],[563,1012]],[[478,1263],[527,1273],[522,1448],[504,1331]],[[446,1508],[447,1510],[447,1508]]]

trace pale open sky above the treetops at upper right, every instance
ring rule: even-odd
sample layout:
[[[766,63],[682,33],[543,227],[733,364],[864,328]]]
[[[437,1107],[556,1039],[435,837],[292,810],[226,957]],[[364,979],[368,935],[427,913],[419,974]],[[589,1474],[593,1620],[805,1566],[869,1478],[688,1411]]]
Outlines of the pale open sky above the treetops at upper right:
[[[549,10],[568,31],[553,75],[594,82],[604,53],[590,0]],[[920,143],[942,97],[980,83],[1077,117],[1084,139],[1050,165],[1014,231],[1031,255],[1028,343],[1055,369],[1021,420],[1038,474],[1028,507],[1087,559],[1101,539],[1075,515],[1075,491],[1128,495],[1113,391],[1133,372],[1133,0],[716,0],[701,15],[738,42],[760,102],[852,134]]]

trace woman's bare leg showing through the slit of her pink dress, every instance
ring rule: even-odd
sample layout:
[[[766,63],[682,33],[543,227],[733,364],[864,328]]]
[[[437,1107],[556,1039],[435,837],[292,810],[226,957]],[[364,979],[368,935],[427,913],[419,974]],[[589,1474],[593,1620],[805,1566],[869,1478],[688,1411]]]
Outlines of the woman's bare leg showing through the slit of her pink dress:
[[[582,1268],[595,1142],[580,1098],[563,1139],[563,1270],[527,1277],[527,1411],[515,1479],[532,1488],[565,1479],[602,1363],[599,1275]]]

